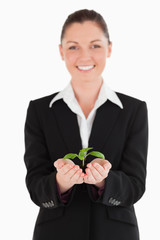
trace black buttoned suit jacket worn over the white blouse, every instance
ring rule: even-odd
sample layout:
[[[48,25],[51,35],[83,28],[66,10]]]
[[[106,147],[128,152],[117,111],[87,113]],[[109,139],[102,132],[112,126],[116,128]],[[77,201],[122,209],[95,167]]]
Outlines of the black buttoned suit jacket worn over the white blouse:
[[[107,100],[97,109],[89,147],[112,164],[103,194],[94,200],[90,184],[74,185],[67,204],[56,187],[54,161],[82,148],[77,116],[57,93],[31,101],[25,123],[26,184],[40,207],[34,240],[138,240],[133,204],[145,191],[146,103],[120,94],[123,109]],[[86,164],[94,159],[88,156]],[[73,160],[81,166],[79,159]]]

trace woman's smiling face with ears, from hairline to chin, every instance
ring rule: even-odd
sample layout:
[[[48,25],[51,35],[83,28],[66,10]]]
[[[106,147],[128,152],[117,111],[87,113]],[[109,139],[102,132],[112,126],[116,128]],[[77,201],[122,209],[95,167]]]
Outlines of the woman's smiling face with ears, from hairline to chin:
[[[73,23],[66,29],[60,54],[72,80],[96,81],[101,79],[112,44],[101,28],[92,21]]]

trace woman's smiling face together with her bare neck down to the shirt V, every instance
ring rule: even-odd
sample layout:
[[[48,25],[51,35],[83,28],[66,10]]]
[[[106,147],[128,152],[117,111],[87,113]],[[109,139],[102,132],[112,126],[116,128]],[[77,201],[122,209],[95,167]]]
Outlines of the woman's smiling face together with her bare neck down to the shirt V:
[[[112,43],[95,21],[68,23],[65,28],[60,54],[72,76],[76,99],[88,117],[102,85],[102,72],[111,55]]]

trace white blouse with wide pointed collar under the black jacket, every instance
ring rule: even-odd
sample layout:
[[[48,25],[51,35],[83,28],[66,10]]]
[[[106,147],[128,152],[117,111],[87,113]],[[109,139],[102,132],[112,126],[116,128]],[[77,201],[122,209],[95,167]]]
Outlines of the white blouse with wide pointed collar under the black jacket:
[[[59,99],[63,99],[63,101],[68,105],[72,112],[77,114],[78,125],[80,129],[80,136],[82,141],[83,148],[88,148],[88,141],[93,125],[94,118],[96,116],[96,110],[109,99],[114,104],[118,105],[123,109],[123,105],[118,98],[117,94],[111,90],[107,84],[103,81],[101,89],[99,91],[99,95],[95,102],[94,108],[89,113],[86,118],[73,91],[71,81],[70,83],[60,91],[50,102],[49,107],[52,107],[53,103]]]

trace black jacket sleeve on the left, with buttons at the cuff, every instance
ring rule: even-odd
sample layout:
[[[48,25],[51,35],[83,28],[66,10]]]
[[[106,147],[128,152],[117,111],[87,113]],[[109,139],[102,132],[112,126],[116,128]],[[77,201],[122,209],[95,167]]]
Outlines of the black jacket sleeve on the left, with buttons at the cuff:
[[[57,171],[53,165],[55,160],[50,159],[40,119],[34,101],[31,101],[25,122],[26,185],[32,201],[42,208],[68,206],[75,192],[73,187],[67,203],[61,201],[56,183]]]

